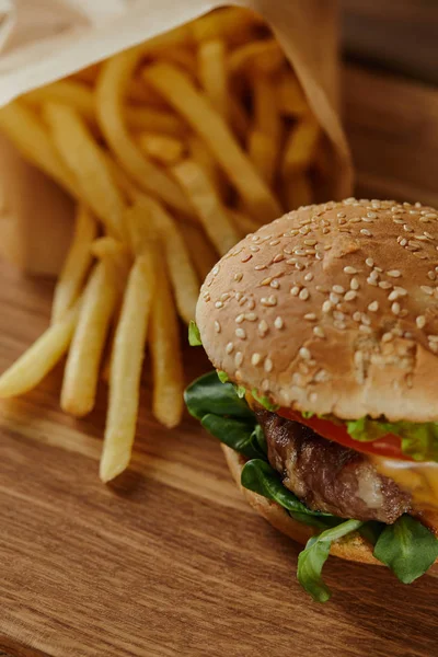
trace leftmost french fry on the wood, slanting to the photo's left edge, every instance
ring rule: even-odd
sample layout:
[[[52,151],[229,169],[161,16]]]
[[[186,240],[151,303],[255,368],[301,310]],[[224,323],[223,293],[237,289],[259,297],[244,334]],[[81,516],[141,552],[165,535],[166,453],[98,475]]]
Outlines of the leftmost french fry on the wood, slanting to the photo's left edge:
[[[69,348],[78,321],[80,300],[65,318],[51,324],[0,377],[0,399],[13,397],[35,388],[59,362]]]

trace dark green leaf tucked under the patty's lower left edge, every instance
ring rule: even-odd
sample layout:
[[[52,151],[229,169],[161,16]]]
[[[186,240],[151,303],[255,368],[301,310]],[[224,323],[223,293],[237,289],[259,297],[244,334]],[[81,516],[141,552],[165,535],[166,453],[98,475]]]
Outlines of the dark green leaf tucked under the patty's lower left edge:
[[[283,485],[281,479],[274,468],[261,459],[252,459],[252,461],[247,461],[244,464],[241,474],[241,484],[249,491],[273,499],[288,511],[306,516],[330,516],[330,514],[308,509],[291,491]]]

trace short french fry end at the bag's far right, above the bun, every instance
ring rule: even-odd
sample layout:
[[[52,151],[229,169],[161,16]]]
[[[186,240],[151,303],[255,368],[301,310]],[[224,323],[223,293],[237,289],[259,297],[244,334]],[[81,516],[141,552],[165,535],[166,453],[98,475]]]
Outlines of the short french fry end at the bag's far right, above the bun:
[[[314,160],[320,135],[321,128],[313,116],[301,119],[292,127],[283,157],[285,178],[309,169]]]

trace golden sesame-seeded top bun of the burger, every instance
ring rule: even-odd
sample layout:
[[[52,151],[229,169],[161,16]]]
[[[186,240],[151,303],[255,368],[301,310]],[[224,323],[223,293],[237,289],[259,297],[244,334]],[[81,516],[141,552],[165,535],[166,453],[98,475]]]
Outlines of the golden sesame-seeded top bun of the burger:
[[[306,206],[247,235],[196,309],[217,369],[280,406],[438,420],[438,212]]]

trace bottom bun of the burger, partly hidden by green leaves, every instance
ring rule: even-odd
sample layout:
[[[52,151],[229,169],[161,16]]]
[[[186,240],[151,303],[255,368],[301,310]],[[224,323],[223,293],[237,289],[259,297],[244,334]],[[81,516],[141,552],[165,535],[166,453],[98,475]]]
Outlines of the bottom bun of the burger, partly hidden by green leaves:
[[[270,522],[278,531],[290,539],[293,539],[293,541],[297,541],[298,543],[306,544],[310,537],[318,533],[312,527],[293,520],[293,518],[291,518],[276,502],[272,502],[262,495],[257,495],[257,493],[244,488],[240,483],[240,477],[242,468],[245,464],[245,458],[226,445],[222,445],[221,447],[237,485],[257,514],[263,516],[263,518]],[[376,566],[384,565],[372,556],[371,543],[362,539],[358,533],[353,533],[338,541],[334,541],[330,553],[334,556],[339,556],[341,558],[361,564],[373,564]],[[438,577],[438,560],[435,562],[434,566],[429,568],[427,574],[433,577]]]

